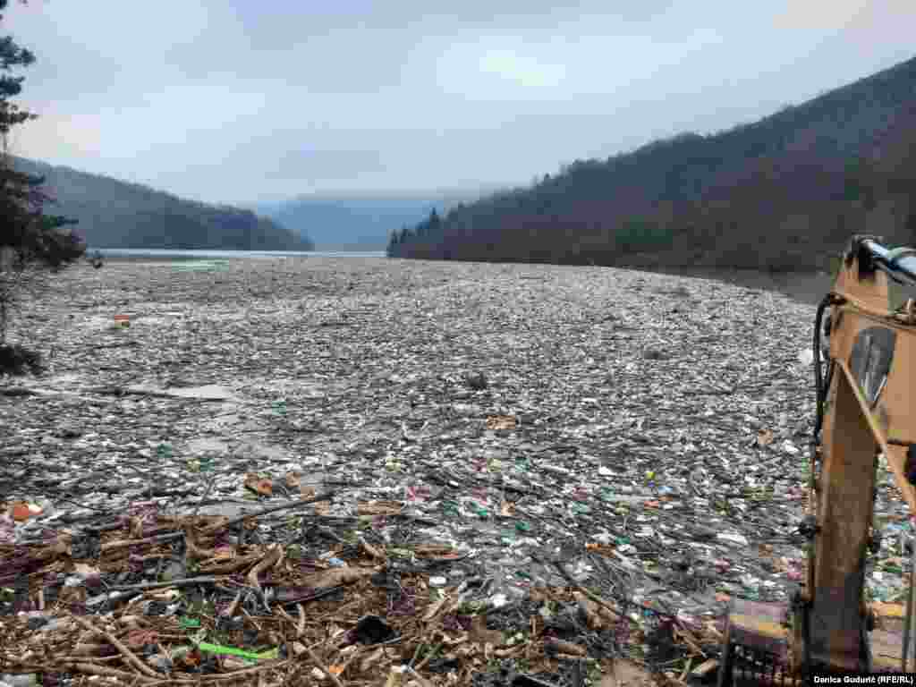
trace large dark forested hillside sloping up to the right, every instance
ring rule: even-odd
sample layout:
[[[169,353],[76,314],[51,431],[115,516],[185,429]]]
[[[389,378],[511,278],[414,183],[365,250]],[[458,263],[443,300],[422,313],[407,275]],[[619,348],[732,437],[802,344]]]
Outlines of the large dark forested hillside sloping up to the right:
[[[529,188],[431,213],[394,232],[387,252],[817,269],[852,233],[916,241],[916,59],[751,125],[576,161]]]

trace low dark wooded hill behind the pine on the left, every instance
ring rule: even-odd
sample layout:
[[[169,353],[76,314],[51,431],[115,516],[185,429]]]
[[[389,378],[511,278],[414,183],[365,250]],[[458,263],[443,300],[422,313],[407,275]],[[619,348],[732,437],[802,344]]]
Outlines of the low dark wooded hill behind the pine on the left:
[[[312,250],[307,236],[250,210],[181,199],[128,183],[13,158],[16,169],[45,178],[56,199],[49,212],[79,220],[91,248]]]

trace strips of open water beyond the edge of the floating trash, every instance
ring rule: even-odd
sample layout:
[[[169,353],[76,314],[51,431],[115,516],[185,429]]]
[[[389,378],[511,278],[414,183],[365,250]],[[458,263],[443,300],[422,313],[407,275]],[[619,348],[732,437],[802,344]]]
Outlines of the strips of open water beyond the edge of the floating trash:
[[[93,254],[95,248],[90,248],[87,253]],[[103,256],[109,258],[148,259],[169,258],[174,260],[186,259],[227,259],[227,258],[267,258],[267,257],[353,257],[376,258],[385,260],[384,251],[254,251],[254,250],[181,250],[181,249],[154,249],[154,248],[99,248]],[[823,298],[830,289],[832,279],[824,272],[789,272],[769,273],[755,269],[725,269],[711,267],[678,267],[659,269],[656,271],[666,274],[682,275],[724,281],[736,284],[747,289],[764,289],[777,291],[789,296],[792,300],[803,303],[815,304]]]

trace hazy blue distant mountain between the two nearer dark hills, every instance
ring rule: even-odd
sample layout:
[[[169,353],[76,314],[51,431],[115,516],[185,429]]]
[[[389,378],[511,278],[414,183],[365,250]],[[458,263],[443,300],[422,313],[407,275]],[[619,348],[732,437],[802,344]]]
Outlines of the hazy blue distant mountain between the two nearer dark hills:
[[[313,195],[265,203],[256,210],[308,235],[317,250],[385,250],[390,234],[417,224],[433,208],[445,212],[479,193],[454,191],[428,195]]]

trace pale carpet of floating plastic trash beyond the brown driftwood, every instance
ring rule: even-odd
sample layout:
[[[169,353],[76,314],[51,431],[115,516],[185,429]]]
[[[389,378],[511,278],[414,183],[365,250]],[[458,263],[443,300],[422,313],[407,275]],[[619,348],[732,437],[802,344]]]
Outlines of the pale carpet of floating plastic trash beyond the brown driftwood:
[[[66,344],[54,363],[70,376],[29,382],[53,389],[40,404],[0,403],[0,426],[34,428],[0,446],[0,464],[12,470],[10,498],[41,503],[56,481],[74,495],[55,501],[54,511],[64,514],[61,529],[71,530],[80,551],[98,541],[87,528],[115,515],[141,519],[136,527],[146,533],[158,527],[157,511],[191,512],[202,499],[214,505],[200,515],[235,518],[351,485],[305,512],[341,537],[358,518],[379,550],[394,535],[401,546],[400,531],[411,523],[411,546],[435,542],[453,551],[431,550],[434,559],[463,559],[465,568],[448,573],[449,583],[474,581],[458,593],[462,603],[492,596],[499,607],[532,581],[555,580],[549,564],[529,553],[554,551],[571,535],[568,572],[588,573],[576,565],[601,560],[586,549],[598,542],[610,550],[600,556],[612,556],[634,587],[677,588],[683,576],[667,573],[683,554],[719,577],[717,591],[740,594],[738,572],[770,568],[738,533],[753,533],[755,543],[787,540],[786,523],[802,513],[801,437],[815,403],[812,352],[799,348],[810,349],[809,304],[612,267],[320,257],[232,263],[218,289],[202,281],[207,273],[175,274],[169,266],[77,269],[63,277],[67,289],[40,301],[42,316],[29,327],[36,340]],[[418,298],[428,287],[434,297]],[[675,291],[691,294],[690,317],[669,315],[682,302]],[[159,318],[161,326],[155,335],[140,322],[116,334],[60,333],[73,293],[83,302],[129,301],[144,313],[141,322]],[[169,314],[176,309],[180,320]],[[91,317],[75,312],[77,322]],[[302,335],[280,335],[290,326]],[[747,345],[736,346],[736,336]],[[649,349],[665,356],[647,358]],[[478,368],[488,390],[463,381]],[[226,393],[202,402],[174,392],[205,385]],[[112,392],[120,387],[128,393]],[[286,399],[285,415],[272,410],[278,398]],[[515,417],[517,425],[487,432],[493,416]],[[61,417],[85,433],[55,436]],[[772,438],[756,441],[761,430]],[[189,469],[191,460],[201,472]],[[20,464],[28,473],[17,472]],[[285,479],[291,471],[300,484]],[[236,505],[249,472],[269,479],[274,494]],[[423,496],[405,499],[407,485]],[[885,491],[876,513],[905,515],[905,504]],[[258,518],[261,540],[288,540],[289,529],[318,534],[311,517]],[[0,542],[25,534],[38,540],[38,532],[0,517]],[[126,525],[116,536],[133,538]],[[881,556],[900,548],[898,536],[887,540],[893,546]],[[245,543],[252,543],[247,534]],[[237,544],[226,537],[220,549]],[[794,559],[802,551],[787,541],[776,554]],[[153,581],[157,571],[147,567],[137,582]],[[496,571],[498,583],[482,586]],[[593,574],[601,574],[597,566]],[[779,581],[790,573],[777,566],[771,574]],[[67,595],[87,576],[71,573]],[[780,600],[779,585],[768,594],[764,583],[748,581],[761,600]],[[0,604],[10,605],[14,592],[0,594]],[[670,603],[677,610],[685,599]]]

